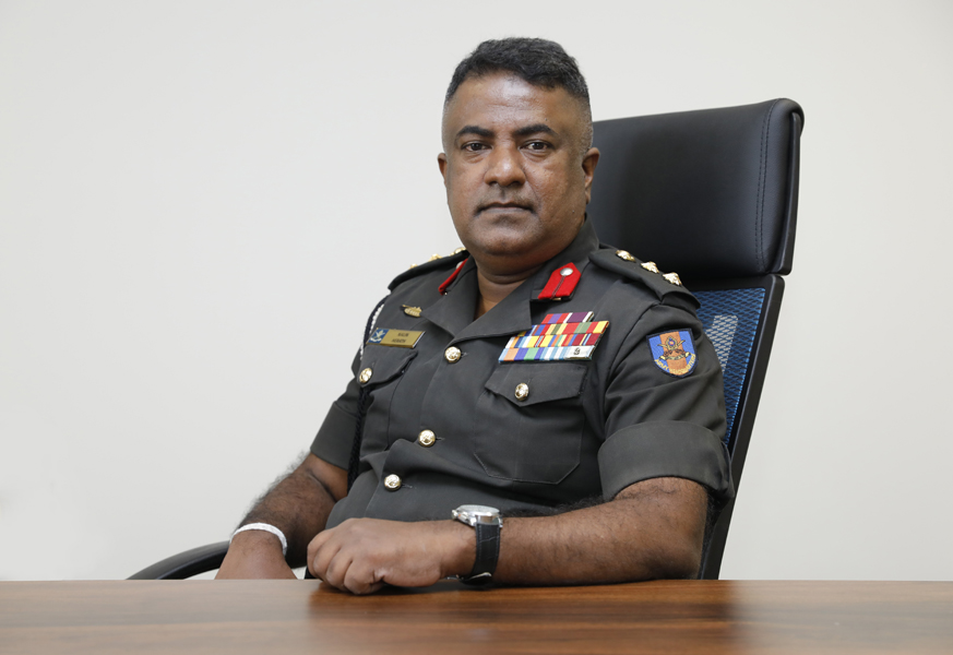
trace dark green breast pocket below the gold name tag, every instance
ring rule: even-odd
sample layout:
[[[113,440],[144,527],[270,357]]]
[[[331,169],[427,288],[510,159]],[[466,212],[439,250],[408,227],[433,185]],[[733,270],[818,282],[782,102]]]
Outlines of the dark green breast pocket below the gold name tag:
[[[358,369],[369,376],[361,386],[370,393],[361,431],[361,456],[386,450],[390,440],[391,406],[394,392],[404,378],[404,371],[417,356],[417,350],[370,345],[365,348]],[[369,372],[368,372],[369,371]]]

